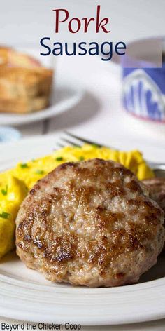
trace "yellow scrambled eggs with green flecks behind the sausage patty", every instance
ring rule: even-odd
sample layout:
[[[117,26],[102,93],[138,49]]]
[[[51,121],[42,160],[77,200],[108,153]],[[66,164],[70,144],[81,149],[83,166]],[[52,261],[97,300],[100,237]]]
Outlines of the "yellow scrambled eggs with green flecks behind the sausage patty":
[[[106,147],[85,144],[82,147],[64,147],[51,155],[0,173],[0,258],[14,248],[15,218],[20,204],[31,187],[57,165],[68,161],[103,158],[122,163],[139,180],[154,177],[140,151],[116,151]]]

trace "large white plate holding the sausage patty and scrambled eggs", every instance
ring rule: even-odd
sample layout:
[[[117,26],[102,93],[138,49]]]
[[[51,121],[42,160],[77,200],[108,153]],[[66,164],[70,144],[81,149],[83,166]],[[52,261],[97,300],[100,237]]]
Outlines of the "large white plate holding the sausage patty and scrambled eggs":
[[[49,154],[58,136],[37,137],[0,145],[0,171],[17,161]],[[124,142],[122,141],[122,145]],[[120,144],[118,144],[120,148]],[[129,148],[125,142],[124,149]],[[145,157],[164,149],[145,149]],[[14,253],[0,262],[0,314],[18,320],[82,325],[110,325],[142,322],[165,317],[165,257],[141,277],[136,285],[118,288],[73,287],[45,281],[27,269]]]

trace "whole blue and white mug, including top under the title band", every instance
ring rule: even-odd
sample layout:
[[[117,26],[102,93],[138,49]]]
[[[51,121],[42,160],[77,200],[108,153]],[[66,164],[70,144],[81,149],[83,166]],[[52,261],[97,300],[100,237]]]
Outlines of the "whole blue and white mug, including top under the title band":
[[[161,48],[159,47],[160,42]],[[138,47],[138,43],[141,43],[140,47]],[[138,52],[137,56],[129,53],[129,55],[124,55],[122,59],[124,108],[130,114],[141,119],[165,122],[165,53],[163,53],[163,40],[136,41],[134,46],[136,46],[136,52]],[[149,59],[154,58],[152,50],[157,49],[156,65],[155,61],[146,60],[144,49],[148,51]],[[141,53],[143,54],[141,55]]]

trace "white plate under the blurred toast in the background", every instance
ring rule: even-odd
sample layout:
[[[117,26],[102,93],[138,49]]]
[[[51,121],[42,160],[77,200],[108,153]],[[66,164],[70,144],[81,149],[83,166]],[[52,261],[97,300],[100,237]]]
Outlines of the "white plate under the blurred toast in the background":
[[[72,83],[66,85],[65,80],[62,81],[60,79],[60,82],[57,80],[52,89],[50,107],[30,114],[1,113],[0,124],[3,126],[20,126],[22,124],[48,119],[74,107],[80,102],[82,95],[83,91],[81,88],[76,87]]]

